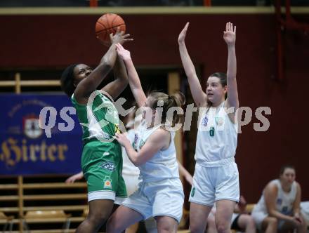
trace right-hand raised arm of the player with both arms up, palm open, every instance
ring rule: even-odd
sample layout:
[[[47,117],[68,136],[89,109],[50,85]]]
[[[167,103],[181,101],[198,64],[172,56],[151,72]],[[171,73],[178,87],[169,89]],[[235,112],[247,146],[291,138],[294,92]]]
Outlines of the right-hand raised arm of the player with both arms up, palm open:
[[[228,98],[226,100],[225,107],[235,107],[235,112],[239,107],[237,81],[236,81],[236,53],[235,53],[235,41],[236,41],[236,26],[233,28],[231,22],[227,22],[225,31],[223,32],[223,39],[228,45],[228,70],[226,72],[228,81]]]

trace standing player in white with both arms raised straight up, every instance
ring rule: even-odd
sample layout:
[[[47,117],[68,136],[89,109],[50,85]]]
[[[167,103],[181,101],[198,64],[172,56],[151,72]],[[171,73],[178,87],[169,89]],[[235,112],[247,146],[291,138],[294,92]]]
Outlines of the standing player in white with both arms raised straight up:
[[[185,46],[187,23],[178,36],[180,57],[197,107],[200,122],[195,152],[195,174],[190,194],[190,231],[204,232],[206,219],[216,202],[216,227],[219,233],[230,232],[230,221],[239,201],[239,177],[235,164],[239,107],[236,82],[236,27],[228,22],[223,39],[228,45],[227,74],[209,76],[202,88]],[[206,93],[205,93],[206,91]],[[228,98],[225,100],[225,95]]]

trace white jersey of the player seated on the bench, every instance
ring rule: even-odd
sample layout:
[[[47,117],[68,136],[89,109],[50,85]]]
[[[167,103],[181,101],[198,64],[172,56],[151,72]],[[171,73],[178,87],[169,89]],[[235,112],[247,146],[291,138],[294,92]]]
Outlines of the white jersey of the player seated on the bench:
[[[296,199],[297,187],[294,181],[291,185],[290,192],[284,192],[281,186],[280,180],[272,180],[271,184],[275,184],[278,188],[278,194],[276,198],[276,210],[284,215],[290,215],[293,211],[293,204]],[[265,204],[264,194],[255,206],[255,211],[263,211],[267,213],[267,207]]]

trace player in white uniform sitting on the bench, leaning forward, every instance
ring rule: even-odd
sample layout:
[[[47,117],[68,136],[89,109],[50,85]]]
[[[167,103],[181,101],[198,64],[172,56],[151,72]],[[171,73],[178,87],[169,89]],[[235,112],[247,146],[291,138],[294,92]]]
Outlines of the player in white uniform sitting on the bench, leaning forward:
[[[283,166],[280,179],[271,180],[251,213],[258,229],[271,232],[306,231],[301,215],[301,186],[295,181],[293,166]]]

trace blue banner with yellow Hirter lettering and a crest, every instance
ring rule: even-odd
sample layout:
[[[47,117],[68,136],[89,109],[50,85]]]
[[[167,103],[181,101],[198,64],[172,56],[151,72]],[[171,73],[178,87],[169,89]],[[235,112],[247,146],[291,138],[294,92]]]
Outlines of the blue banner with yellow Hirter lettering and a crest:
[[[81,126],[67,95],[5,94],[0,104],[0,175],[81,171]],[[53,110],[43,120],[50,135],[39,125],[44,107]]]

